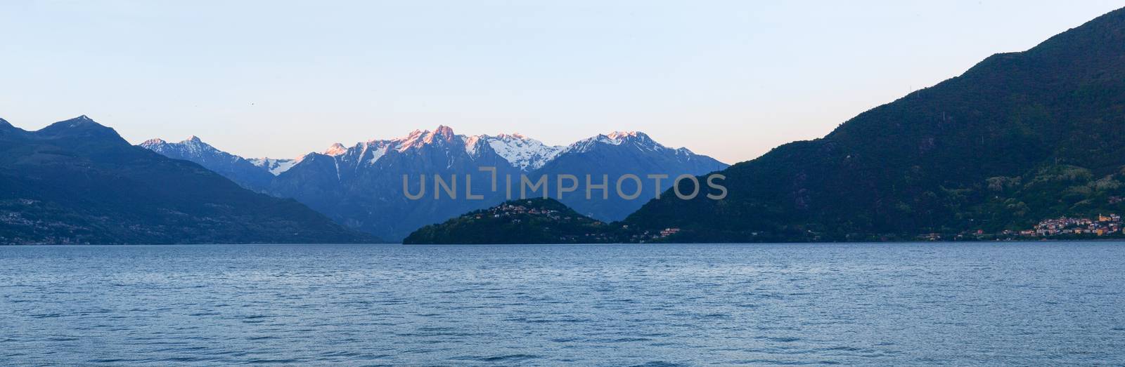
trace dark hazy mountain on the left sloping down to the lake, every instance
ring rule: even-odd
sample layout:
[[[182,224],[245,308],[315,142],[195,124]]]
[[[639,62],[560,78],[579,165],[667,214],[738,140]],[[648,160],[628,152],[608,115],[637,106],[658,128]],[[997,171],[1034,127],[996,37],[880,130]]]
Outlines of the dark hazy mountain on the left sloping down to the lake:
[[[129,145],[86,116],[0,123],[0,244],[357,242],[288,199]]]

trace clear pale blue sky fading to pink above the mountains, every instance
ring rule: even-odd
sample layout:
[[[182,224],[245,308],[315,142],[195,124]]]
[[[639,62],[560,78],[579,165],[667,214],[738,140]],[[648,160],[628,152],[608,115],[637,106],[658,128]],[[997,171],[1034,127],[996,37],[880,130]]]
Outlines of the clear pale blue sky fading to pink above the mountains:
[[[0,117],[296,157],[451,126],[735,163],[1118,1],[0,1]]]

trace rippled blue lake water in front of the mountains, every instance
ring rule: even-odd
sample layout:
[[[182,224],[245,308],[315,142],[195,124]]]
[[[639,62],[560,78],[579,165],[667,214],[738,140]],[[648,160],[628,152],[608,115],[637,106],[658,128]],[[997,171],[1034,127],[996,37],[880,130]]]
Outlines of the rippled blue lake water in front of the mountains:
[[[1123,365],[1125,242],[0,247],[0,365]]]

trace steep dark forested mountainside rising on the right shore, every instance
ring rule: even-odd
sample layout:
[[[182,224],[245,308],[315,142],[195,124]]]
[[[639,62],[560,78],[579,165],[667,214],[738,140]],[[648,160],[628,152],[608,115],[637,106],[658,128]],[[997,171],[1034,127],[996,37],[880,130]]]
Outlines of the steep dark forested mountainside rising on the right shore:
[[[722,172],[628,222],[685,241],[879,240],[1125,211],[1125,10]],[[685,182],[686,184],[686,182]],[[1114,198],[1117,198],[1115,200]]]

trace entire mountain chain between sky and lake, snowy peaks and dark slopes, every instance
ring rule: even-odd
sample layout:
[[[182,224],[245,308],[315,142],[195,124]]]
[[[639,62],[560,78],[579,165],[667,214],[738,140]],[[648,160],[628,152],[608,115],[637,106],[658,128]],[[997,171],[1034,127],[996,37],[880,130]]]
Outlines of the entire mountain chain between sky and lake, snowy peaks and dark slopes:
[[[0,242],[374,240],[366,233],[495,242],[511,240],[505,228],[543,241],[960,238],[1125,212],[1123,138],[1125,9],[1025,52],[992,55],[824,138],[729,167],[633,131],[550,146],[441,126],[296,159],[246,159],[198,138],[130,146],[87,117],[38,131],[0,120]],[[606,186],[627,174],[718,172],[728,194],[683,200],[665,180],[641,186],[648,192],[637,200],[586,200],[582,189],[559,195],[557,186],[549,196],[558,201],[520,204],[505,190],[469,200],[468,175],[479,180],[474,190],[500,183],[483,167],[496,177],[590,175]],[[440,198],[422,176],[452,178],[450,192],[462,196]],[[410,199],[407,187],[431,190]],[[538,213],[519,222],[486,218],[519,210],[513,205]]]

